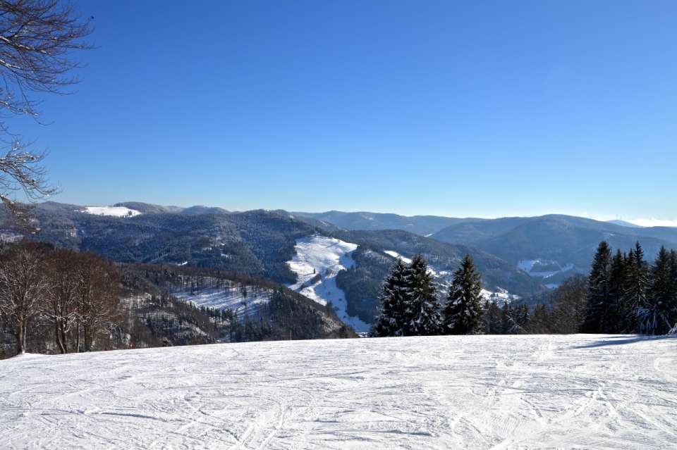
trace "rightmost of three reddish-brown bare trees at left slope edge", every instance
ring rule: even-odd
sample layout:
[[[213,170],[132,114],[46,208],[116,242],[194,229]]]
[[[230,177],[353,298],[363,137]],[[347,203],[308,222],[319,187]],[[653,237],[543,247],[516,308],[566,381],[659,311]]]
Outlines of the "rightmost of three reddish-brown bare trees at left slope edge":
[[[77,351],[80,342],[85,351],[92,351],[97,337],[114,327],[118,321],[119,294],[120,273],[115,265],[93,251],[79,254]]]

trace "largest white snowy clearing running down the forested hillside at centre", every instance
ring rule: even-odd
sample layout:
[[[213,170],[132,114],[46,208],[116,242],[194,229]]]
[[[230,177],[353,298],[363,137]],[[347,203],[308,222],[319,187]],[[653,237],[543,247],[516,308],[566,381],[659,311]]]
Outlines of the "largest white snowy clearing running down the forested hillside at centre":
[[[288,264],[298,276],[298,282],[288,287],[322,305],[331,301],[338,308],[336,315],[343,323],[353,327],[356,332],[367,332],[369,324],[346,313],[346,294],[336,286],[339,270],[355,264],[351,254],[357,248],[357,244],[322,235],[297,239],[294,246],[296,254]],[[312,284],[311,280],[317,274],[322,276],[322,280]]]

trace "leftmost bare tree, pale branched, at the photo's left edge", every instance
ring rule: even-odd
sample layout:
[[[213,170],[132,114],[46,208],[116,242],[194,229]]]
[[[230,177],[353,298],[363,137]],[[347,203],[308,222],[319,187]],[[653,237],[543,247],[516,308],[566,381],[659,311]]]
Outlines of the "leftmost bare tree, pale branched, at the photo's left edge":
[[[40,244],[14,246],[0,258],[0,316],[16,338],[16,353],[26,349],[26,332],[40,315],[49,280]]]

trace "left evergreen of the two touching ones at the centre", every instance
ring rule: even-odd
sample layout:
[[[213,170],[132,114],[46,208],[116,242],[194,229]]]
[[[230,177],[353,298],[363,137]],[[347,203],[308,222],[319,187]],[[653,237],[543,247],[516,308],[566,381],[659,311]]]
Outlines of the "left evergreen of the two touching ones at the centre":
[[[403,312],[405,304],[410,300],[406,272],[407,266],[404,261],[397,258],[383,283],[379,296],[381,307],[376,322],[370,327],[370,336],[403,336]]]

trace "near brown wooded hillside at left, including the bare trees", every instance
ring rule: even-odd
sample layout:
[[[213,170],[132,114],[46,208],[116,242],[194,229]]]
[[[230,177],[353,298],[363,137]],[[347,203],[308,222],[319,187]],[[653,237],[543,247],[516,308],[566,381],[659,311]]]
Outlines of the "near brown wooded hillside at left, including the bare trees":
[[[238,308],[196,306],[176,283],[267,290]],[[115,264],[42,242],[0,245],[0,358],[216,342],[356,337],[333,311],[272,280],[176,266]]]

